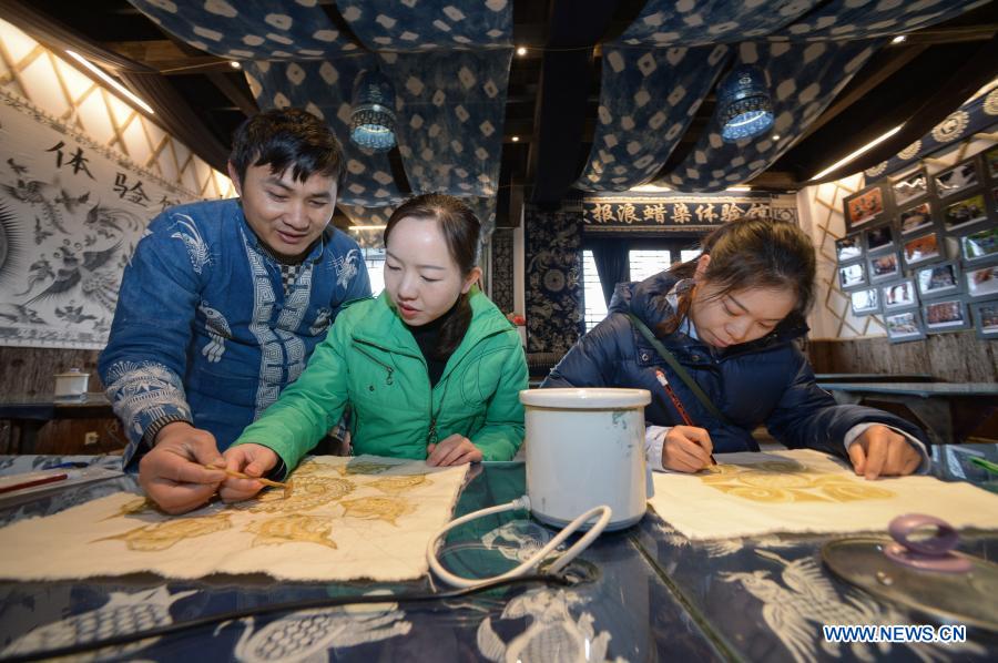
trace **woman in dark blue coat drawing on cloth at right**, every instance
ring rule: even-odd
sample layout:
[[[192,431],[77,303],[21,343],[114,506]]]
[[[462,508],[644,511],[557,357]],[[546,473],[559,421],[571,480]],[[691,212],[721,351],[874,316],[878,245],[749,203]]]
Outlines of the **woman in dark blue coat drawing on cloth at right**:
[[[787,447],[847,458],[867,479],[927,468],[926,437],[916,426],[883,410],[836,405],[815,384],[795,343],[807,332],[815,277],[814,247],[797,226],[731,222],[702,246],[694,261],[618,285],[607,319],[569,350],[543,387],[651,391],[645,447],[655,469],[694,472],[712,452],[757,451],[751,434],[763,424]],[[629,314],[672,353],[710,406]]]

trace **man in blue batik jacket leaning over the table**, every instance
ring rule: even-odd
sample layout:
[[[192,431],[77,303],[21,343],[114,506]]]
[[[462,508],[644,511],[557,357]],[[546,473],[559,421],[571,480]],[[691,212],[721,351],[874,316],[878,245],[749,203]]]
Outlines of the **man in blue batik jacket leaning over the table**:
[[[370,296],[330,223],[344,155],[324,122],[267,111],[235,133],[238,200],[166,210],[124,272],[99,370],[129,437],[124,466],[167,512],[207,501],[220,449],[305,369],[345,302]]]

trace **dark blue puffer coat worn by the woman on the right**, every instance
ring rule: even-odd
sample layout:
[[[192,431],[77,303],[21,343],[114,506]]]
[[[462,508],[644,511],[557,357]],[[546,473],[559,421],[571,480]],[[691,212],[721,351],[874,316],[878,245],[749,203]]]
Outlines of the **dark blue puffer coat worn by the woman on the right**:
[[[741,345],[712,349],[676,332],[659,340],[730,421],[713,418],[693,391],[627,317],[630,310],[654,333],[672,317],[665,295],[676,278],[662,272],[641,283],[617,286],[610,314],[583,336],[554,367],[543,387],[630,387],[648,389],[646,424],[676,426],[682,418],[655,377],[661,369],[693,422],[707,429],[714,451],[757,451],[752,430],[765,425],[792,449],[817,449],[845,457],[843,438],[852,427],[879,422],[905,430],[927,443],[918,427],[889,412],[856,405],[836,405],[815,384],[814,370],[794,343],[807,332],[804,324],[784,320],[768,335]]]

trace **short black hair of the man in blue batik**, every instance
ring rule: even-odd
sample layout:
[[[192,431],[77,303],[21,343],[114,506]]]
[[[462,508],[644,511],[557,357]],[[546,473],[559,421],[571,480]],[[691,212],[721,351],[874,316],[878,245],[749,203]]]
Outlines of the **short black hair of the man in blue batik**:
[[[269,165],[274,173],[288,167],[297,182],[315,173],[336,180],[346,173],[343,147],[329,126],[302,109],[274,109],[253,115],[232,136],[232,154],[240,184],[249,166]]]

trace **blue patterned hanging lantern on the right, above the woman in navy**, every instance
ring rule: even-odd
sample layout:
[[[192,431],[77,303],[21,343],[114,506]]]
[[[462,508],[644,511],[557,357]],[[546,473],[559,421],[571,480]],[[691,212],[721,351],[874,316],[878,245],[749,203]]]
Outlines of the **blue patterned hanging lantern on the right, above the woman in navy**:
[[[773,126],[773,100],[763,70],[740,64],[727,74],[717,88],[717,120],[725,143],[757,136]]]

